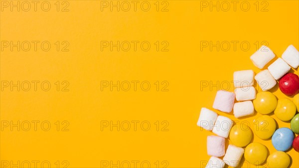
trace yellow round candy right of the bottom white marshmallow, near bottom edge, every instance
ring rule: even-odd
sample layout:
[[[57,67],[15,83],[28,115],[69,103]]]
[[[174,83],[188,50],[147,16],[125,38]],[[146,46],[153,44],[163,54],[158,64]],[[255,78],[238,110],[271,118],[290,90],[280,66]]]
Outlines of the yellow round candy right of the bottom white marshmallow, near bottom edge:
[[[252,165],[262,165],[267,160],[267,155],[267,147],[260,143],[251,143],[245,148],[244,157]]]

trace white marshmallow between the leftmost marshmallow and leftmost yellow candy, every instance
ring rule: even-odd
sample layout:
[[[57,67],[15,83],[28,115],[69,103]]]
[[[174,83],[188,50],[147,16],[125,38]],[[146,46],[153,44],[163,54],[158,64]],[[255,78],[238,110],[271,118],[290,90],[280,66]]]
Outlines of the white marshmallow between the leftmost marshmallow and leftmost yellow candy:
[[[234,122],[231,119],[224,116],[218,116],[212,132],[220,137],[227,138],[233,124]]]

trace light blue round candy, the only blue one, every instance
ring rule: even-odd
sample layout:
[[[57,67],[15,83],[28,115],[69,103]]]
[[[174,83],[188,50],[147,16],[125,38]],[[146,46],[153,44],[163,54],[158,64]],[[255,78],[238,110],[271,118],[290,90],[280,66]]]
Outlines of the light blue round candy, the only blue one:
[[[272,136],[272,145],[277,151],[287,151],[292,147],[294,133],[289,128],[280,128]]]

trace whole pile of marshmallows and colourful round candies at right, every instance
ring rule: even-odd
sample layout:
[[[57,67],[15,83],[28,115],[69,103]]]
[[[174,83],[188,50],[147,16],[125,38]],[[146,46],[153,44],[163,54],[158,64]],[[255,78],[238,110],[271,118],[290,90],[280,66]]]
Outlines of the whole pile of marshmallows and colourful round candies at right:
[[[269,47],[262,46],[250,59],[255,66],[262,69],[274,57],[275,54]],[[278,58],[268,69],[256,75],[253,70],[234,72],[235,92],[217,91],[213,104],[214,109],[225,113],[233,110],[236,118],[253,115],[255,111],[262,114],[254,121],[258,128],[254,129],[254,134],[262,140],[272,137],[272,144],[277,152],[267,159],[267,147],[261,143],[251,143],[254,135],[248,125],[234,125],[231,119],[202,108],[197,125],[217,135],[207,137],[207,154],[211,158],[206,168],[224,168],[225,165],[237,167],[243,155],[246,161],[256,166],[266,161],[269,168],[287,168],[290,165],[290,156],[285,151],[293,146],[294,150],[299,152],[299,136],[294,139],[294,133],[299,134],[299,114],[296,115],[296,111],[299,111],[299,77],[288,73],[290,66],[299,66],[299,51],[293,45],[286,49],[282,58]],[[254,79],[262,90],[257,94],[253,87]],[[293,101],[288,98],[277,100],[273,93],[267,91],[277,84],[277,80],[285,95],[295,95]],[[239,102],[234,103],[235,99]],[[275,120],[267,115],[272,112],[281,121],[291,120],[291,129],[277,129]],[[225,152],[225,138],[228,137],[232,145],[229,145]]]

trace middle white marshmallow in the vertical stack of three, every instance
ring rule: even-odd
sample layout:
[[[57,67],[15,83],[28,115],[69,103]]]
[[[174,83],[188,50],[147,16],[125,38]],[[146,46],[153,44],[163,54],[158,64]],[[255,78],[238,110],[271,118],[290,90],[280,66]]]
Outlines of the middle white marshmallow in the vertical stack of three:
[[[238,101],[253,100],[256,98],[256,90],[253,86],[236,88],[235,94]]]

